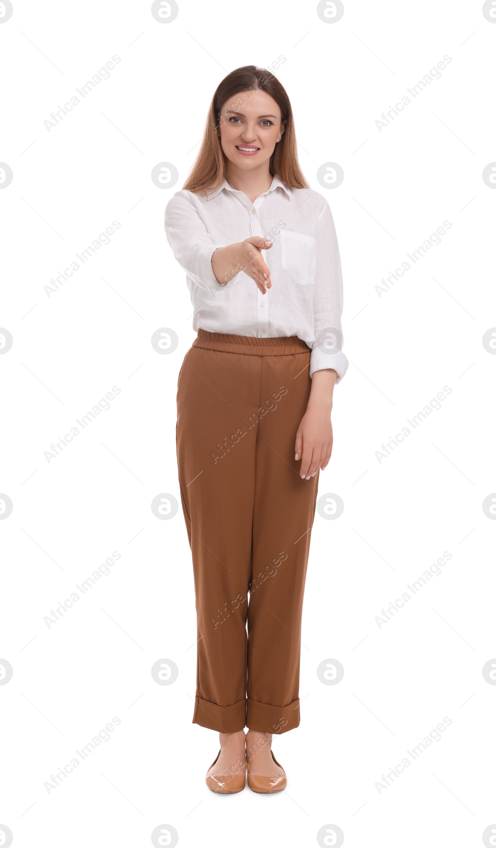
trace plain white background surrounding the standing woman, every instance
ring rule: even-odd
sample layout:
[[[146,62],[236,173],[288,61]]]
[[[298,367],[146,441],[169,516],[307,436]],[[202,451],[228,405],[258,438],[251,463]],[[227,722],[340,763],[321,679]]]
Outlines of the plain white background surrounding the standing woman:
[[[14,3],[0,25],[3,138],[13,170],[0,191],[3,468],[14,504],[2,534],[0,823],[17,845],[483,845],[496,822],[496,326],[493,205],[496,25],[482,3]],[[44,126],[116,54],[108,80]],[[441,79],[382,131],[375,121],[448,54]],[[304,601],[302,721],[274,739],[280,795],[217,796],[204,784],[216,734],[192,724],[196,622],[180,499],[176,382],[192,343],[185,274],[164,206],[186,180],[220,80],[242,64],[274,69],[293,104],[302,169],[332,208],[340,245],[348,374],[337,387],[332,461],[319,494]],[[176,187],[150,178],[176,165]],[[340,187],[316,179],[328,161]],[[58,276],[113,220],[120,229],[64,287]],[[381,296],[376,286],[443,220],[452,227]],[[150,343],[170,327],[169,355]],[[120,394],[56,458],[44,452],[113,386]],[[440,392],[440,410],[381,462],[376,451]],[[408,426],[408,425],[406,425]],[[45,616],[113,551],[120,561],[59,622]],[[381,628],[376,616],[444,551],[452,558]],[[159,686],[153,662],[179,677]],[[327,658],[341,683],[316,675]],[[44,783],[113,717],[119,727],[64,783]],[[444,717],[403,774],[376,782]],[[410,759],[412,759],[410,757]],[[489,843],[487,843],[489,844]]]

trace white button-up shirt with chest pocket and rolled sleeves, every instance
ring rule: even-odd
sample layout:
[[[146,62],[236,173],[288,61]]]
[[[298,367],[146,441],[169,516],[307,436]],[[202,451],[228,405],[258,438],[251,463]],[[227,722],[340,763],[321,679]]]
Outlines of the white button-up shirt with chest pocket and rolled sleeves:
[[[343,354],[343,279],[331,209],[319,192],[290,188],[274,176],[252,203],[225,180],[215,192],[181,191],[165,209],[165,232],[187,272],[193,329],[270,338],[298,336],[311,349],[310,377],[348,369]],[[265,294],[240,271],[220,284],[212,269],[216,248],[265,237],[272,287]]]

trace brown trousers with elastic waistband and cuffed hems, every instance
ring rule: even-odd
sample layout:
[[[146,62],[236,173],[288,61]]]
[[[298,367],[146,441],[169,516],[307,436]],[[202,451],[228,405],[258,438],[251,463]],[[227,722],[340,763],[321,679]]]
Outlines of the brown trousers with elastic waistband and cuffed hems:
[[[299,724],[319,478],[302,480],[294,459],[309,359],[296,336],[200,329],[181,365],[177,461],[198,618],[192,720],[222,733],[248,726],[282,734]]]

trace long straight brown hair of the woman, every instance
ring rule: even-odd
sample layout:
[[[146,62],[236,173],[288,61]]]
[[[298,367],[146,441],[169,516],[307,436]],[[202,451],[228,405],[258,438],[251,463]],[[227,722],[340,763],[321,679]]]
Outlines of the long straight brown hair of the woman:
[[[215,191],[226,179],[226,154],[220,146],[219,138],[220,109],[235,95],[254,91],[265,91],[274,98],[281,109],[281,123],[285,122],[286,125],[281,141],[276,144],[270,157],[270,176],[277,175],[292,188],[309,188],[309,183],[298,165],[293,111],[287,92],[269,70],[247,64],[243,68],[232,70],[217,86],[210,103],[202,145],[183,189],[195,193],[208,188]],[[237,98],[236,103],[239,109],[240,98]],[[234,103],[231,108],[237,110]]]

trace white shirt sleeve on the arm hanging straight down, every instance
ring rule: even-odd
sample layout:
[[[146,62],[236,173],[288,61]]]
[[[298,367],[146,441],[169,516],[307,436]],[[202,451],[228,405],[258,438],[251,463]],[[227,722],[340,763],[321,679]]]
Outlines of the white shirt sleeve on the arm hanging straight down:
[[[333,368],[337,380],[348,370],[348,360],[343,354],[343,276],[337,246],[336,228],[331,209],[326,206],[320,213],[317,230],[317,265],[314,288],[315,341],[310,355],[310,377],[315,371]]]

